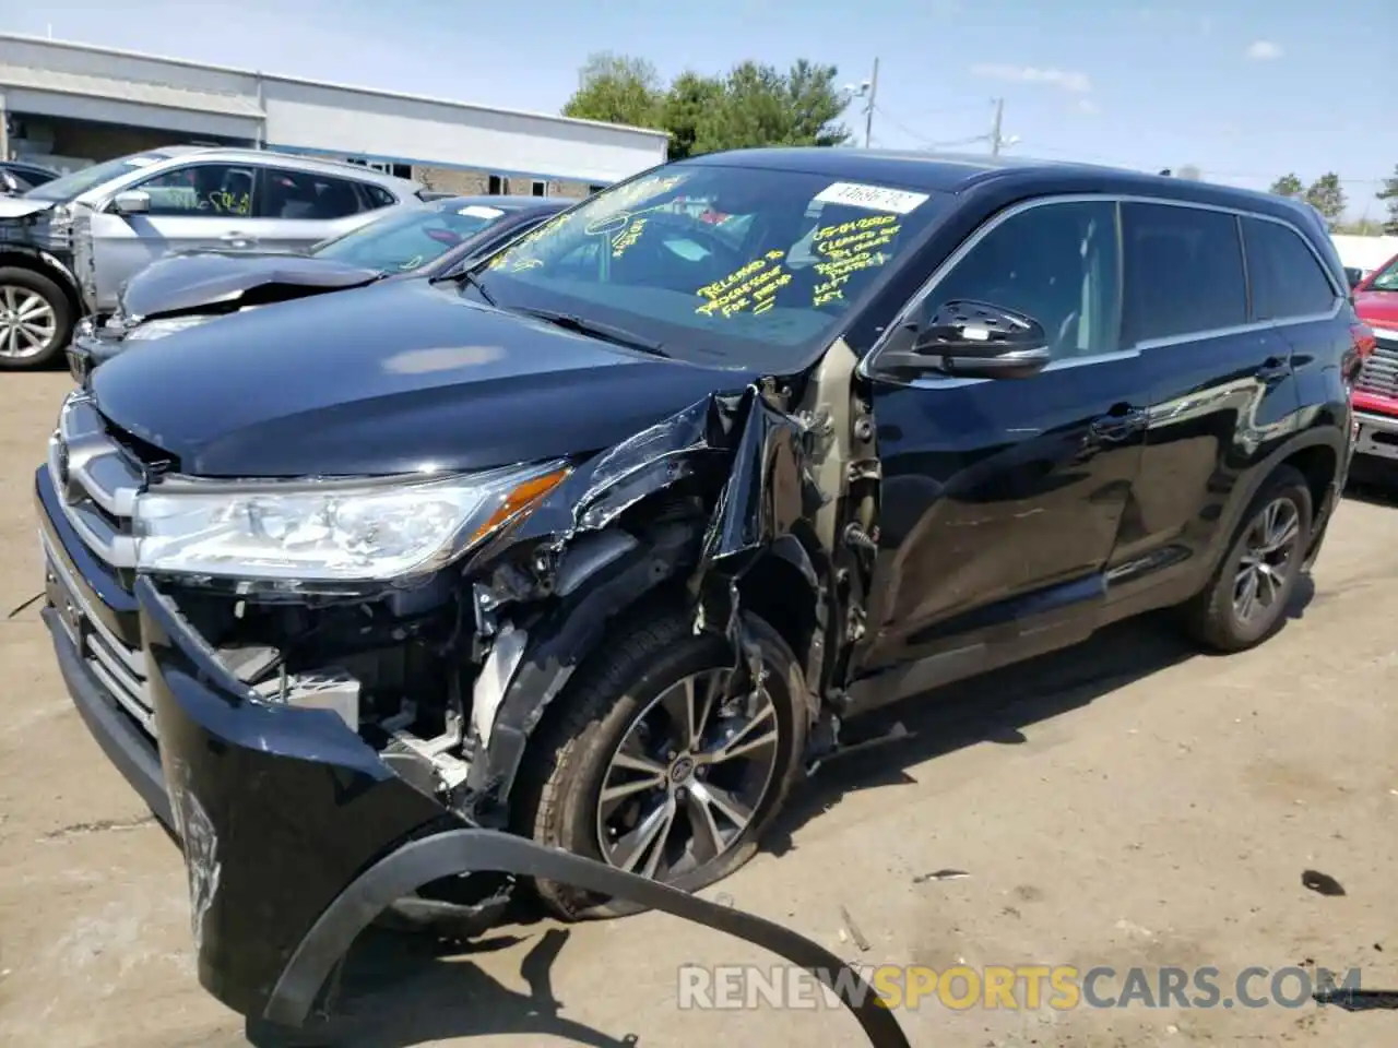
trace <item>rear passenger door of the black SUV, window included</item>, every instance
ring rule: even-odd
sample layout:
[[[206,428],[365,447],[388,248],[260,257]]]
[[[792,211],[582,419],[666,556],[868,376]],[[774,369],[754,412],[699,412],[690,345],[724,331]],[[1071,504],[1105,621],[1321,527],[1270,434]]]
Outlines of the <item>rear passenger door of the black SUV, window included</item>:
[[[1141,354],[1151,411],[1113,601],[1197,590],[1227,538],[1239,481],[1296,425],[1292,345],[1250,307],[1244,221],[1177,201],[1123,204],[1123,337]]]

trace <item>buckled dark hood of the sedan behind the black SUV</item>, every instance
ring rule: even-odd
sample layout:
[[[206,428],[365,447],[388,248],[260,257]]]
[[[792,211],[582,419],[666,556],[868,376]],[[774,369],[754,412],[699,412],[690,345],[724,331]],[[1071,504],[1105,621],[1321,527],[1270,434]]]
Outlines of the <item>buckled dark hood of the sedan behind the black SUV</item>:
[[[212,306],[236,309],[358,288],[382,275],[377,270],[289,252],[168,254],[131,277],[117,310],[130,320],[145,320]]]

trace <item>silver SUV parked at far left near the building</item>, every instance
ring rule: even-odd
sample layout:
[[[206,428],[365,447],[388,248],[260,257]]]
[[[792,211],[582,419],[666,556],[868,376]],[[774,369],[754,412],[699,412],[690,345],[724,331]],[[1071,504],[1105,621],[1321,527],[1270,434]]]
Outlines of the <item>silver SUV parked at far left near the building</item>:
[[[0,369],[48,366],[84,312],[110,313],[122,284],[169,252],[303,249],[422,207],[419,190],[348,163],[169,147],[0,198]]]

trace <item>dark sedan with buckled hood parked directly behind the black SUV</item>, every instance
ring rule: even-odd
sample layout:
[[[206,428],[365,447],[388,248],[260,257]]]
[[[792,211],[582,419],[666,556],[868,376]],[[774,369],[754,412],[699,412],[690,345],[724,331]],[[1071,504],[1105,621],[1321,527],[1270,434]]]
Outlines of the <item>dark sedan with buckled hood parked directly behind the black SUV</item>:
[[[316,245],[308,253],[168,254],[136,274],[103,323],[84,317],[69,348],[80,383],[92,367],[152,338],[274,302],[361,288],[380,279],[450,277],[468,260],[521,236],[573,201],[449,197]]]

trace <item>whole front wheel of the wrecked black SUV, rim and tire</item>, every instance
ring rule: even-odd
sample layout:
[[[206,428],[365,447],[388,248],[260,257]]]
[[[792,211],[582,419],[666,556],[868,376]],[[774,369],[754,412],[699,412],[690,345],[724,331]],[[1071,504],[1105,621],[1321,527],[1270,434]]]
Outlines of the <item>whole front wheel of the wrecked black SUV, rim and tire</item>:
[[[752,858],[798,777],[808,721],[790,647],[749,625],[756,682],[721,637],[695,634],[681,615],[604,648],[530,743],[517,829],[684,891]],[[551,880],[534,886],[565,919],[637,908]]]

